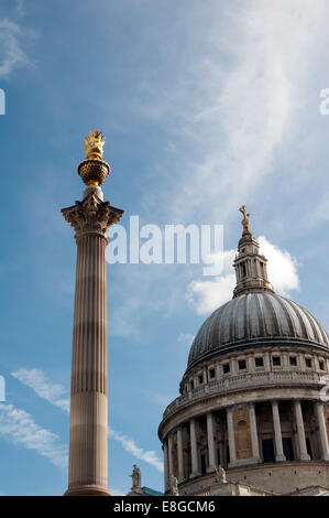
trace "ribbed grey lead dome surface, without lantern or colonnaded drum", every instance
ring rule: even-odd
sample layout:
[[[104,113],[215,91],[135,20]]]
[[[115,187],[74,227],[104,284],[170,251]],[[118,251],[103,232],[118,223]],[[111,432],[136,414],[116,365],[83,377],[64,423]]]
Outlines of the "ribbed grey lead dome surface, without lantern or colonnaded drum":
[[[249,293],[216,310],[200,327],[187,369],[227,347],[289,342],[329,347],[322,325],[304,307],[272,293]]]

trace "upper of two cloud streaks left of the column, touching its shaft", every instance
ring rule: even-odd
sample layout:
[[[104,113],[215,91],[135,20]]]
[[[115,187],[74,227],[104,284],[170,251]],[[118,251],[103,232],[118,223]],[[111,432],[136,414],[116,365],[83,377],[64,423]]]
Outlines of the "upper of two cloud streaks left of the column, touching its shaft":
[[[11,373],[11,376],[34,390],[39,397],[61,408],[65,412],[69,412],[69,399],[63,398],[63,396],[67,393],[67,390],[62,385],[55,385],[48,381],[41,369],[21,368]]]

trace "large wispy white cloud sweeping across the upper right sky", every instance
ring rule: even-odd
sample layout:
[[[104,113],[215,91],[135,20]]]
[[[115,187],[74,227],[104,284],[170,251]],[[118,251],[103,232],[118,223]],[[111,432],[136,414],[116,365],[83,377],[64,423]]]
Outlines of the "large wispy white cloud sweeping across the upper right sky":
[[[276,152],[296,138],[310,68],[327,37],[323,0],[316,8],[304,0],[303,9],[299,0],[197,6],[188,13],[193,56],[184,46],[183,61],[177,41],[168,42],[167,55],[176,52],[182,66],[174,82],[168,75],[144,85],[147,101],[140,105],[178,142],[165,174],[171,204],[164,190],[162,206],[178,220],[227,217],[275,173]]]

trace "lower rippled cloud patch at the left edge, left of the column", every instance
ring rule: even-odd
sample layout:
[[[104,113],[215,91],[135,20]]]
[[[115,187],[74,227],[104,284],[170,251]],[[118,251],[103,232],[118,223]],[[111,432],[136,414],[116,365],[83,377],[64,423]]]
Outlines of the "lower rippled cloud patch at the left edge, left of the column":
[[[67,450],[58,435],[41,428],[30,413],[13,404],[0,403],[0,435],[13,444],[34,450],[57,467],[67,467]]]

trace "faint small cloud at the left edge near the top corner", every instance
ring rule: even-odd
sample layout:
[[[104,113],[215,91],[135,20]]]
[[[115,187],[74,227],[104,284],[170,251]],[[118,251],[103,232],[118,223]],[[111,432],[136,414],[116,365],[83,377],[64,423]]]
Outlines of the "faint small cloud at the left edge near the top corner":
[[[9,19],[0,21],[0,78],[7,78],[20,65],[29,63],[21,45],[22,28]]]

